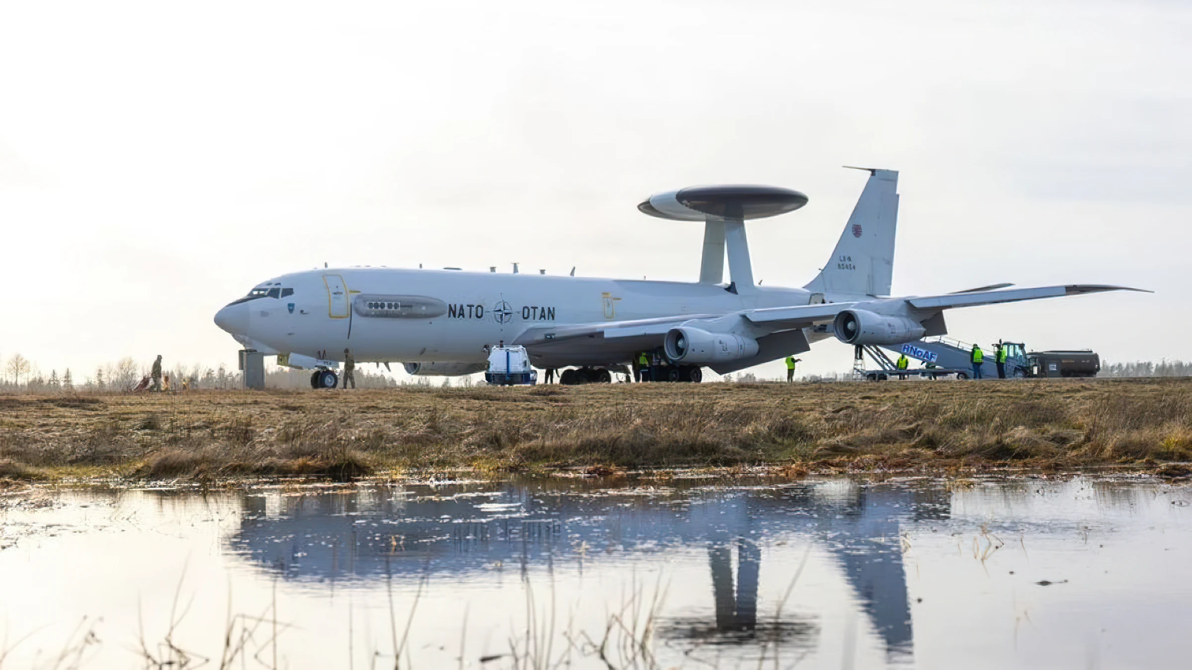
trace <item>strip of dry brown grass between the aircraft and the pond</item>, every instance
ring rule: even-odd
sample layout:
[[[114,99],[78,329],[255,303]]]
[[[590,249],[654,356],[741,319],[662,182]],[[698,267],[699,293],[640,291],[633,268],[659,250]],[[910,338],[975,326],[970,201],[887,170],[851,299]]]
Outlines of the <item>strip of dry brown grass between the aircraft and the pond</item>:
[[[1190,459],[1188,379],[0,396],[11,479]]]

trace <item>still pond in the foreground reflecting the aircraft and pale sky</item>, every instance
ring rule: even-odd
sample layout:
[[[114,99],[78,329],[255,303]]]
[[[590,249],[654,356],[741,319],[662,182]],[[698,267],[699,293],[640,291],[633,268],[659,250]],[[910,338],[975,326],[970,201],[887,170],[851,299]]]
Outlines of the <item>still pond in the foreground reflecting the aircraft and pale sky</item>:
[[[1192,489],[510,478],[0,495],[0,668],[1185,668]]]

